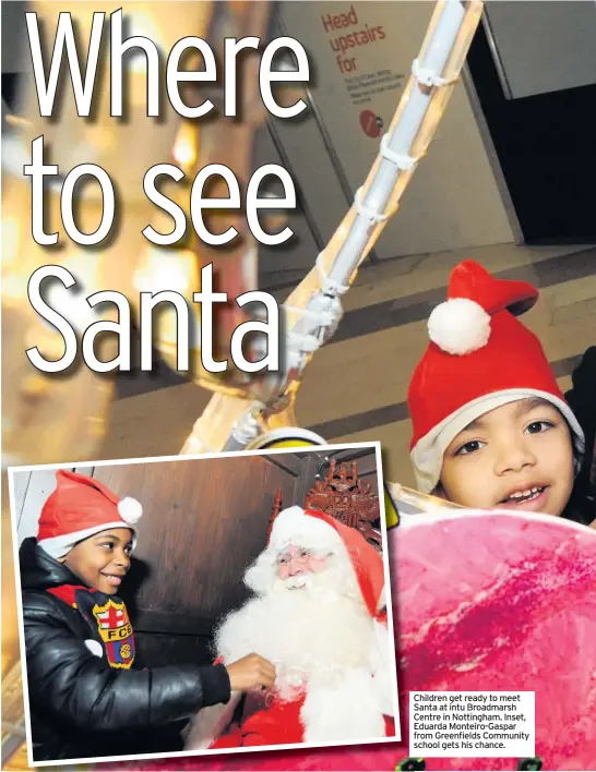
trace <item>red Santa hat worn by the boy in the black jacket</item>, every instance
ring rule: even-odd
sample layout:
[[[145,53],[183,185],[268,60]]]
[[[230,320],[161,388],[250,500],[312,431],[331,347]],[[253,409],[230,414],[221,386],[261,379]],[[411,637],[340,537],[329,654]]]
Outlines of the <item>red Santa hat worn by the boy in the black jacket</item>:
[[[111,528],[132,531],[143,514],[134,498],[120,498],[98,480],[65,469],[56,472],[57,487],[41,509],[37,543],[48,555],[63,557],[84,539]]]

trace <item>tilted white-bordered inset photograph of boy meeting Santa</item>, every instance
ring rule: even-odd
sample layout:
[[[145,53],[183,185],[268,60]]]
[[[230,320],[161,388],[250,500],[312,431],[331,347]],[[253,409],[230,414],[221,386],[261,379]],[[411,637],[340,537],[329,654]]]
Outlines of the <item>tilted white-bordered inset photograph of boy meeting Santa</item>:
[[[380,461],[11,469],[29,762],[398,739]]]

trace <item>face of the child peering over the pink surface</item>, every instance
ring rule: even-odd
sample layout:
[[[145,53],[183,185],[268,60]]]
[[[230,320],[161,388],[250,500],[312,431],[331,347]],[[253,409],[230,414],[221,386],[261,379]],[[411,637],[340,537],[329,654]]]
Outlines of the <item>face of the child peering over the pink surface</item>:
[[[454,504],[561,515],[573,487],[573,445],[562,414],[543,399],[485,413],[445,450],[441,487]]]

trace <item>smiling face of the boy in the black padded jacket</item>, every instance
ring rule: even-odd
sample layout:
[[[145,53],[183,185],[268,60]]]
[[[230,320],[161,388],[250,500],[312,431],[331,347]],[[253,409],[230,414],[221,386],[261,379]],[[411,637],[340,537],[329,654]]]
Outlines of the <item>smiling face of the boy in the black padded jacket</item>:
[[[132,533],[111,528],[79,542],[61,558],[87,587],[114,595],[130,568]]]

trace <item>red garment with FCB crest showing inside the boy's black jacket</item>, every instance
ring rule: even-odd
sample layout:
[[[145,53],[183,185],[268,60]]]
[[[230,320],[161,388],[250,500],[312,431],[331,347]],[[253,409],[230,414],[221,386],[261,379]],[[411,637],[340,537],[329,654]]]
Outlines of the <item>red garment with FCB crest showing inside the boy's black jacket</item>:
[[[110,667],[128,670],[132,665],[134,635],[123,601],[82,584],[62,584],[48,589],[48,592],[82,614],[102,640]]]

